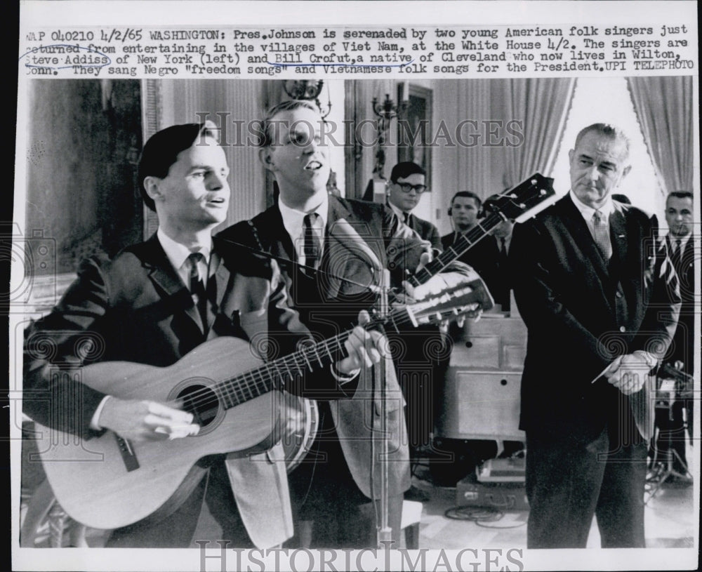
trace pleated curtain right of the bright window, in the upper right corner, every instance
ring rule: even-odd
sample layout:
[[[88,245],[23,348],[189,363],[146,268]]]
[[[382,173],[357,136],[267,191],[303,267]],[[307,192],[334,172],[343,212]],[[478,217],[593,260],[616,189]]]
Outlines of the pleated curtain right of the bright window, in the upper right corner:
[[[692,77],[628,77],[644,141],[667,195],[692,190]]]

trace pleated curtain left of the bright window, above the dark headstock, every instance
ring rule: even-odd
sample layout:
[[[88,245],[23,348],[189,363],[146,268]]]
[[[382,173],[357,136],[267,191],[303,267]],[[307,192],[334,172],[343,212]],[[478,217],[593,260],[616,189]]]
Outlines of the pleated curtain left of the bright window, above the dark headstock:
[[[504,121],[520,121],[523,140],[505,138],[503,185],[512,188],[537,171],[550,175],[570,110],[575,79],[505,79],[495,82],[494,100]],[[507,127],[506,125],[503,127]],[[508,130],[508,133],[510,131]],[[514,143],[517,142],[517,145]],[[510,145],[510,143],[512,145]]]

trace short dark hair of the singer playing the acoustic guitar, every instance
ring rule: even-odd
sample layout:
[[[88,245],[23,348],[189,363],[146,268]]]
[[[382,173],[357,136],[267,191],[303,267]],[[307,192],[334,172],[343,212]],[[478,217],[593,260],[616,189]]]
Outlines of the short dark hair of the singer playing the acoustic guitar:
[[[211,121],[206,123],[187,123],[173,125],[154,133],[144,145],[139,160],[137,175],[139,190],[144,204],[152,211],[156,211],[154,199],[149,197],[144,187],[144,179],[158,177],[163,179],[168,175],[168,170],[176,161],[180,152],[189,149],[198,140],[211,137],[219,140],[218,128]]]

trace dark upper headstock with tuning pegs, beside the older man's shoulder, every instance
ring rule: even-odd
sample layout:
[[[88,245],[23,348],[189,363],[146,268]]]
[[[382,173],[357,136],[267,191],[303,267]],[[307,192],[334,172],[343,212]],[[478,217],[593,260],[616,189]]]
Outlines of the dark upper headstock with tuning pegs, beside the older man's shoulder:
[[[483,208],[515,222],[524,222],[555,201],[555,195],[553,179],[534,173],[515,188],[485,199]]]

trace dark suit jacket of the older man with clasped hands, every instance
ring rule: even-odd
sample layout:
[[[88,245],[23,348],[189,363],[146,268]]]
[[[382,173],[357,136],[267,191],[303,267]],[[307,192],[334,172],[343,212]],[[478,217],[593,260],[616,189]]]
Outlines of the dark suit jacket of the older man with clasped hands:
[[[592,380],[619,354],[665,350],[675,331],[680,298],[651,220],[628,205],[615,209],[609,268],[569,196],[512,235],[512,283],[528,328],[520,426],[532,434],[600,434],[621,393]],[[650,405],[646,398],[642,390],[628,401]],[[650,437],[651,427],[637,427]]]

